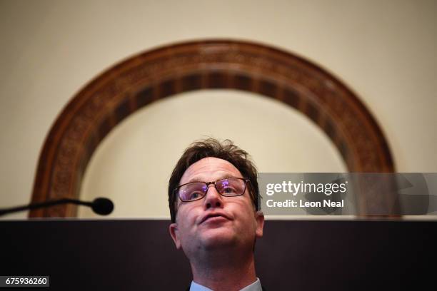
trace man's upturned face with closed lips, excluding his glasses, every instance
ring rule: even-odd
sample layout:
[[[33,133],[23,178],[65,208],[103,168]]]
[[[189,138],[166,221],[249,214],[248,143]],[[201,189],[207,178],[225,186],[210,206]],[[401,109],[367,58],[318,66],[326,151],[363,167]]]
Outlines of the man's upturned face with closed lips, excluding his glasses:
[[[191,165],[182,175],[179,185],[190,182],[212,182],[222,178],[243,178],[231,163],[219,158],[204,158]],[[256,213],[248,189],[240,196],[223,197],[214,185],[209,185],[201,200],[181,202],[176,198],[176,223],[170,234],[176,247],[191,252],[233,245],[253,246],[263,235],[264,217]]]

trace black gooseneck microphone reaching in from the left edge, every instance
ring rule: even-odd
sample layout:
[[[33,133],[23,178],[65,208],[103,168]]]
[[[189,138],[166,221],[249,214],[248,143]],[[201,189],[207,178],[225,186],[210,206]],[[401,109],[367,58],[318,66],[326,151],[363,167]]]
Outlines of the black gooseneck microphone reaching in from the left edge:
[[[70,198],[62,198],[59,200],[49,200],[41,203],[31,203],[29,205],[23,205],[14,208],[0,209],[0,216],[8,213],[16,213],[28,209],[33,210],[38,208],[47,208],[50,206],[66,204],[66,203],[89,206],[94,211],[94,213],[100,215],[109,215],[109,213],[111,213],[112,210],[114,210],[114,203],[112,203],[112,201],[109,200],[108,198],[96,198],[93,200],[93,202],[86,202],[86,201],[70,199]]]

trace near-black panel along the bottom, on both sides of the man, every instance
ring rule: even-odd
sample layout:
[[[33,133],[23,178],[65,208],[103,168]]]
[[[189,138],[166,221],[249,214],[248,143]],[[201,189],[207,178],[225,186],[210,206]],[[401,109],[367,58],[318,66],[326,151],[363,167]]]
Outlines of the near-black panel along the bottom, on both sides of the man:
[[[49,275],[50,287],[41,290],[186,290],[189,262],[175,249],[168,225],[164,220],[1,221],[0,275]],[[266,290],[418,290],[428,282],[433,290],[435,281],[427,274],[435,270],[436,226],[268,220],[256,242],[257,275]]]

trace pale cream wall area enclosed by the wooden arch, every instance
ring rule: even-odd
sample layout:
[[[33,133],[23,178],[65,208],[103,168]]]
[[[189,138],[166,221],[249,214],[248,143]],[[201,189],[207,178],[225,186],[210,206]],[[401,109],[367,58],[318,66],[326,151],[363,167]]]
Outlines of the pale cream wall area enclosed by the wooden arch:
[[[167,218],[171,171],[184,148],[206,136],[230,138],[263,172],[346,171],[328,138],[297,111],[251,93],[197,91],[156,102],[117,126],[94,153],[81,197],[111,198],[112,217]],[[96,215],[81,208],[79,216]]]

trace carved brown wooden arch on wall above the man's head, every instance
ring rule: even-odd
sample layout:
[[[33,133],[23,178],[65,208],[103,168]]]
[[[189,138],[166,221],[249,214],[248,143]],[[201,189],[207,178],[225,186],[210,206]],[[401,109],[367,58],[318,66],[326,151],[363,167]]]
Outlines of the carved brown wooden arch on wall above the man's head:
[[[258,93],[293,106],[333,141],[351,172],[392,172],[390,150],[371,113],[341,81],[286,51],[243,41],[194,41],[131,57],[71,99],[39,157],[32,202],[78,198],[100,141],[123,118],[156,100],[204,88]],[[74,205],[29,217],[74,217]]]

